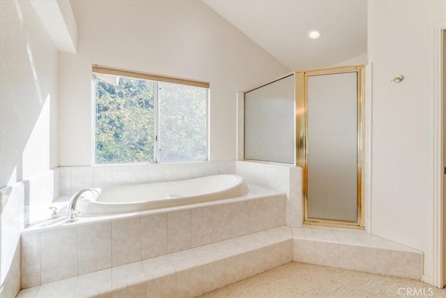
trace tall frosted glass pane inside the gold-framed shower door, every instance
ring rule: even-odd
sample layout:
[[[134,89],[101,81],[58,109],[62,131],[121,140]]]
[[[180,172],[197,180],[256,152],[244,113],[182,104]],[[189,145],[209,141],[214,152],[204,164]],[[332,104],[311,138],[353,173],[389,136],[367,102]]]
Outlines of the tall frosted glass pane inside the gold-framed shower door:
[[[308,217],[357,221],[357,73],[307,83]]]

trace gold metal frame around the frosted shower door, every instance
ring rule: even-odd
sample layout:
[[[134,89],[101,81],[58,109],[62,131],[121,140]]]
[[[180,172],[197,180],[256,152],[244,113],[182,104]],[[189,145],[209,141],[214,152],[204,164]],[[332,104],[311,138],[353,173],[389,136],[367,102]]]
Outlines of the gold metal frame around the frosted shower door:
[[[344,228],[364,228],[365,66],[342,66],[295,71],[296,165],[302,167],[303,223]],[[308,77],[357,73],[357,221],[308,217]]]

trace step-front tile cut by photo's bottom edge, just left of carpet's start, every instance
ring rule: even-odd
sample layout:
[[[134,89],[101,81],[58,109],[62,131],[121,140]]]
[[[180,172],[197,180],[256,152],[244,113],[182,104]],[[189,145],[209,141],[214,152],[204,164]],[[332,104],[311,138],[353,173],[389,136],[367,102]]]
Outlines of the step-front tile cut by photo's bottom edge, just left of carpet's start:
[[[176,295],[197,297],[203,293],[203,267],[181,271],[176,274]]]

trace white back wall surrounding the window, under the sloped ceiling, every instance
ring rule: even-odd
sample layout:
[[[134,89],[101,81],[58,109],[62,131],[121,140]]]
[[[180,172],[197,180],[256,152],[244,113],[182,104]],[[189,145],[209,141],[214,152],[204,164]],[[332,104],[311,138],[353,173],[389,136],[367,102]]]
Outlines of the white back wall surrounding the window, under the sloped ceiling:
[[[72,1],[77,54],[59,54],[59,163],[90,165],[91,64],[210,82],[210,159],[236,159],[236,91],[289,72],[201,1]]]

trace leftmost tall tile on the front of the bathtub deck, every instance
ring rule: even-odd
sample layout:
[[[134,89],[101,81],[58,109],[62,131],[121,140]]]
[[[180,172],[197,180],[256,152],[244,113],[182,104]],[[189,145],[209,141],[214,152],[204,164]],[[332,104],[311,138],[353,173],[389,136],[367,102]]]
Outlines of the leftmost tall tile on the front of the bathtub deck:
[[[22,235],[22,275],[40,272],[40,233]]]

